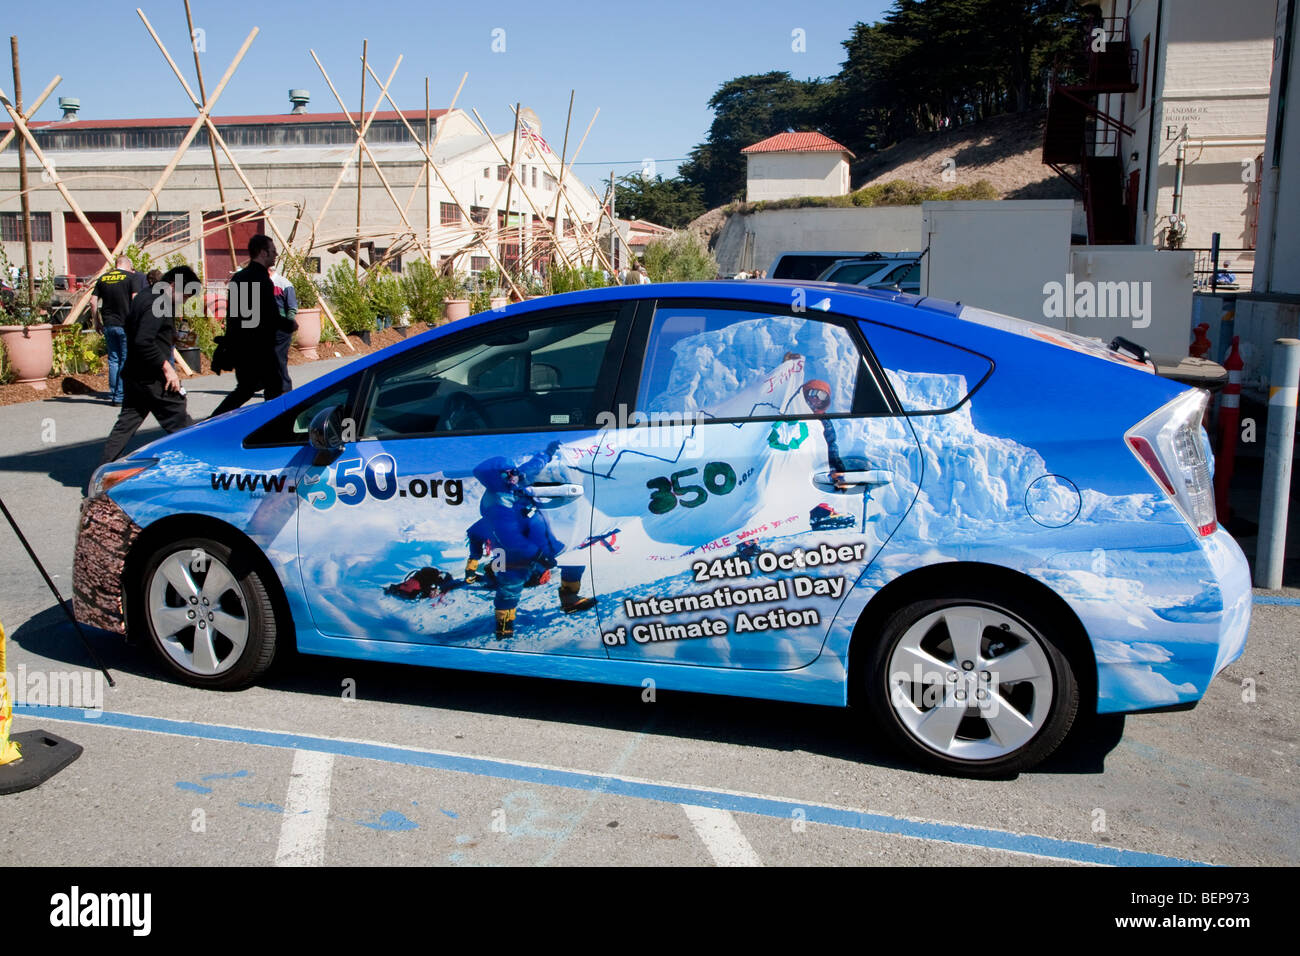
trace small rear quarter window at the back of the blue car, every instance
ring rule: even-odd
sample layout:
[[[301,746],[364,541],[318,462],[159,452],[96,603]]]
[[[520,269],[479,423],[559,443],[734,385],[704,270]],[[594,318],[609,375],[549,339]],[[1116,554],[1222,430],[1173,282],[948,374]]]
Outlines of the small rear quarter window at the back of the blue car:
[[[953,411],[993,371],[983,355],[937,338],[868,321],[859,328],[905,412]]]

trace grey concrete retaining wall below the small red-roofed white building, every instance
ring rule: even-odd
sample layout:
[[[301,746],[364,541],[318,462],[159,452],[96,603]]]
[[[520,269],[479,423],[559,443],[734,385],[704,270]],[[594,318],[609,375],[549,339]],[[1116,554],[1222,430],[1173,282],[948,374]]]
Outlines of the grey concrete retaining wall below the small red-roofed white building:
[[[779,252],[919,252],[919,206],[767,209],[731,216],[714,246],[724,276],[771,268]]]

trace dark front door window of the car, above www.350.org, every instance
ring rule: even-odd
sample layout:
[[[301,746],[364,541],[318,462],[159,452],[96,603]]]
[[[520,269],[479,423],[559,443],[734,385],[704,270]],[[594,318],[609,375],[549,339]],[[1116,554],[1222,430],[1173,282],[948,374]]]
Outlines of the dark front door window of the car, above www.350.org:
[[[434,342],[374,373],[363,438],[593,425],[618,312],[498,325]]]

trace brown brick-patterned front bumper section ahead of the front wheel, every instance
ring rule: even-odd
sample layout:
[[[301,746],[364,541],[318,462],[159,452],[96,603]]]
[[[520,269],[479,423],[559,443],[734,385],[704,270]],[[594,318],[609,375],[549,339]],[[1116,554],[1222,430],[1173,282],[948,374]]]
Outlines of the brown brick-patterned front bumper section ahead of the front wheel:
[[[140,527],[107,494],[82,502],[73,558],[73,613],[77,620],[126,633],[122,581],[126,555],[139,533]]]

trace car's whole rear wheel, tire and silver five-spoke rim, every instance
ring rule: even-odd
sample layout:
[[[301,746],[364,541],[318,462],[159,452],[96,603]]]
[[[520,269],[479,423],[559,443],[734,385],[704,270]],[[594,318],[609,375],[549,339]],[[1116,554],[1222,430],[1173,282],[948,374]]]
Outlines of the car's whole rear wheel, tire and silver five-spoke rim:
[[[949,773],[1028,770],[1065,739],[1079,685],[1050,615],[1028,605],[949,597],[902,607],[867,669],[885,734]]]

